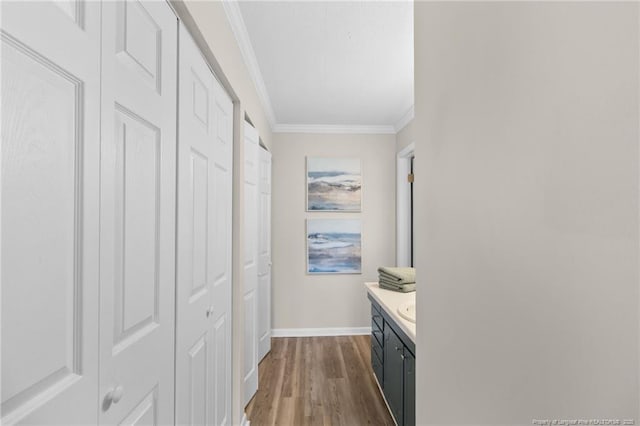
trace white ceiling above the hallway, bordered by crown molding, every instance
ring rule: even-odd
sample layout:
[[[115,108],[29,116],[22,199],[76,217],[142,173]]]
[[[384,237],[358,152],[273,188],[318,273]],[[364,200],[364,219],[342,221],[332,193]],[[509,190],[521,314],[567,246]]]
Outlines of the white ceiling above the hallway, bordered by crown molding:
[[[412,118],[412,2],[225,3],[275,131],[393,133]]]

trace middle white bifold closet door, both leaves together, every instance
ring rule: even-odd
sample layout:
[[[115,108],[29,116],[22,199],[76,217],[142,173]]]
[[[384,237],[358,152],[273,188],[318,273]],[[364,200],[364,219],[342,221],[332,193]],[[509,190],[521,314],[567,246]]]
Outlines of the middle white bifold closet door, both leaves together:
[[[229,424],[233,104],[180,26],[176,423]]]

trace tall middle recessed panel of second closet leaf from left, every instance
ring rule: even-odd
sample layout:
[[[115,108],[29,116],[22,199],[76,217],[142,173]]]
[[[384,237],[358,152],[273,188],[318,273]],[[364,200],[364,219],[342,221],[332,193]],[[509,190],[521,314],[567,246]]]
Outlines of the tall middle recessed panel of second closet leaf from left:
[[[158,317],[160,131],[120,106],[115,122],[114,337],[119,343]]]

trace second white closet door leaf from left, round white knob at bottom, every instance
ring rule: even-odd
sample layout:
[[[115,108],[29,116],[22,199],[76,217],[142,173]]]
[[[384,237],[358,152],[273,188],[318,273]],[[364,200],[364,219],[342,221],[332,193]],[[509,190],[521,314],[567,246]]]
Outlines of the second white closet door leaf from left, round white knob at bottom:
[[[101,423],[174,421],[177,18],[102,4]]]

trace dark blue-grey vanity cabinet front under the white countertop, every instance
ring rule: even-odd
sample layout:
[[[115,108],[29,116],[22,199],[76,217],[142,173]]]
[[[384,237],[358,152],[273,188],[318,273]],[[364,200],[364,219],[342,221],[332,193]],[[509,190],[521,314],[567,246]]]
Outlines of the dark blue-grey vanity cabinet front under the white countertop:
[[[415,344],[371,296],[371,366],[399,426],[415,425]]]

